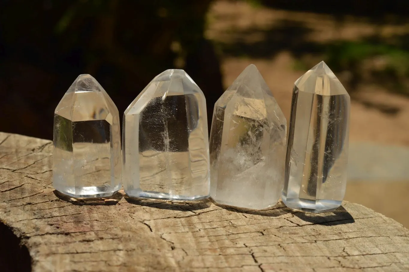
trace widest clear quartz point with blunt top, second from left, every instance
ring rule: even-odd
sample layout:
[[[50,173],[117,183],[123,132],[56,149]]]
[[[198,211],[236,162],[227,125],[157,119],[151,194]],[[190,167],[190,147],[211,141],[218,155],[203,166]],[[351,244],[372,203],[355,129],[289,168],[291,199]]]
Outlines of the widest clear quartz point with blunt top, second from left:
[[[209,197],[206,101],[186,72],[166,70],[146,86],[125,110],[122,137],[128,196]]]

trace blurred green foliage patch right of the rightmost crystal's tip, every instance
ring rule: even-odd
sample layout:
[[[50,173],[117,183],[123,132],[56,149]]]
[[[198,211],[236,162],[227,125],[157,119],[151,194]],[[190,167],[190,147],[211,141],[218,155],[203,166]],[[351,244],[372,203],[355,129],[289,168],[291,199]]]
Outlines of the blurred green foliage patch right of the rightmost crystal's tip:
[[[334,72],[351,72],[353,90],[360,83],[376,83],[409,95],[409,51],[405,43],[379,37],[341,40],[325,47],[324,59]]]

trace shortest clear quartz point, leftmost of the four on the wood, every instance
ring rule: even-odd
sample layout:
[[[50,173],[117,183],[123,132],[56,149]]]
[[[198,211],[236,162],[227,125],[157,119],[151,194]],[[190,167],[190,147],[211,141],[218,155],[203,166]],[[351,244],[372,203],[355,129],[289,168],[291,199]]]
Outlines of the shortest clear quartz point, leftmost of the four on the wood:
[[[81,74],[54,112],[53,186],[76,198],[121,188],[119,112],[89,74]]]

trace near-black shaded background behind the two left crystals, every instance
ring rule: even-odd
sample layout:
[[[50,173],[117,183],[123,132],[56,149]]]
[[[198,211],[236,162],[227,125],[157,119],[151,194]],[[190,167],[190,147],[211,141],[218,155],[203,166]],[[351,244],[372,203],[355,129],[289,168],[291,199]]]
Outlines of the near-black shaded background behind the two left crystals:
[[[154,76],[184,69],[207,95],[211,115],[223,90],[203,35],[210,3],[1,0],[1,130],[51,139],[58,101],[85,73],[122,114]]]

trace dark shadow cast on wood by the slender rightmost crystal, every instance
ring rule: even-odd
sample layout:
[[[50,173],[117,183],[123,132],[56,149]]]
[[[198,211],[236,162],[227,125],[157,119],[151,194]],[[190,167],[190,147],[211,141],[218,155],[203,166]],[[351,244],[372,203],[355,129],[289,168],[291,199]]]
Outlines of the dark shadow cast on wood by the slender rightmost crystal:
[[[327,211],[319,214],[305,213],[302,211],[296,211],[293,214],[301,220],[317,225],[335,226],[355,223],[355,219],[343,206],[334,209],[333,211]]]

